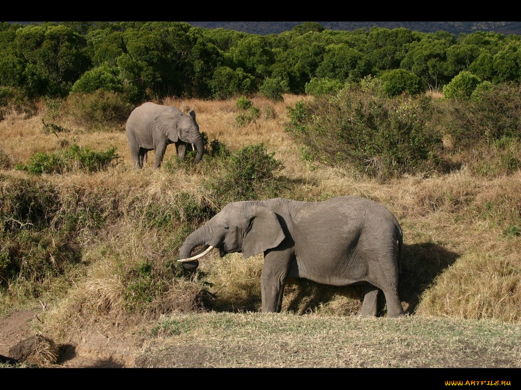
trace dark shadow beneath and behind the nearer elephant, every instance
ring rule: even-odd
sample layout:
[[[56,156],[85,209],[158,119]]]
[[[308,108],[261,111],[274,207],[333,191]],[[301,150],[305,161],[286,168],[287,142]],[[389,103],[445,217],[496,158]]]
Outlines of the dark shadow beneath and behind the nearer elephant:
[[[403,246],[401,275],[399,280],[399,294],[406,314],[414,314],[420,302],[421,295],[443,270],[454,264],[460,257],[455,252],[443,248],[432,242],[424,242]],[[313,312],[318,307],[331,307],[331,311],[338,313],[339,305],[346,315],[355,315],[362,308],[365,295],[365,285],[351,285],[336,287],[315,283],[306,279],[288,280],[284,295],[290,296],[283,310],[293,311],[303,315]],[[344,299],[338,300],[338,297]],[[382,293],[378,296],[378,315],[385,314],[386,305]],[[335,301],[337,303],[333,304]]]

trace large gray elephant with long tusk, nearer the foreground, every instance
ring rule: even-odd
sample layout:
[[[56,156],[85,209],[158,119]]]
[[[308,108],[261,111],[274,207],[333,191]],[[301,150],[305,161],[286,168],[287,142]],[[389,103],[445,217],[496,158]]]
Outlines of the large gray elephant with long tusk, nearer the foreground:
[[[194,269],[213,248],[221,257],[264,252],[263,312],[281,310],[287,278],[306,278],[339,286],[366,282],[359,315],[377,315],[382,290],[387,315],[399,317],[404,314],[398,295],[402,246],[398,221],[374,201],[354,196],[322,202],[276,198],[229,203],[184,240],[178,261]]]

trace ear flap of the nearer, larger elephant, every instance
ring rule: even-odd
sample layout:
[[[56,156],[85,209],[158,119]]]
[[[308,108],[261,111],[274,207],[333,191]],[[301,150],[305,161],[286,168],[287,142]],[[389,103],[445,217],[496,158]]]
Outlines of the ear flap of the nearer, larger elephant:
[[[286,237],[274,212],[263,206],[252,206],[251,212],[250,227],[242,243],[244,258],[275,248]]]

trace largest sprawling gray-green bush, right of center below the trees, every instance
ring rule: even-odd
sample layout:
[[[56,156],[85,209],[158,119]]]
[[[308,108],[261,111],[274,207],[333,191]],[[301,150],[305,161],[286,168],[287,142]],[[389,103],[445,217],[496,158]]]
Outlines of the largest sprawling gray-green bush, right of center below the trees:
[[[432,112],[426,96],[387,98],[346,86],[333,98],[289,108],[286,131],[302,142],[308,160],[384,179],[437,162],[441,137],[429,123]]]

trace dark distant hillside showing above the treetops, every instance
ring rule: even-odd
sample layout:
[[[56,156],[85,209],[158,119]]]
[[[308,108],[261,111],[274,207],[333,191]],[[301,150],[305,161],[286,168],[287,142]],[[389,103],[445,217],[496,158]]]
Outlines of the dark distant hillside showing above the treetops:
[[[223,28],[227,30],[242,31],[249,34],[280,34],[290,31],[295,25],[304,22],[188,22],[196,27],[207,29]],[[437,32],[447,31],[455,36],[460,33],[473,33],[476,31],[493,31],[504,35],[521,35],[521,22],[318,22],[328,30],[354,31],[357,29],[367,29],[371,27],[383,27],[394,29],[403,27],[411,31]]]

